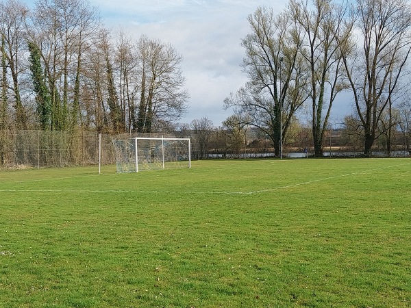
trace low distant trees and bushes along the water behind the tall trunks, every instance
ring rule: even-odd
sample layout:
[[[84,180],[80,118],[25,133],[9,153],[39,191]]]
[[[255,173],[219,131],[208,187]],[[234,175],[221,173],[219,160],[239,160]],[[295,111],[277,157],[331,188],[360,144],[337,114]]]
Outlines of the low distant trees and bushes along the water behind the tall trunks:
[[[408,109],[410,106],[408,106]],[[393,112],[395,121],[408,123],[398,125],[390,131],[386,121],[382,120],[378,130],[385,133],[377,137],[371,156],[390,157],[411,155],[410,114],[404,110],[404,117],[399,118]],[[329,123],[324,133],[323,154],[339,157],[364,157],[364,136],[358,129],[360,120],[346,116],[343,123]],[[277,156],[270,136],[263,129],[255,126],[242,126],[236,116],[229,116],[220,127],[213,125],[212,120],[203,117],[192,120],[190,125],[179,131],[179,137],[190,138],[192,154],[195,158],[208,157],[272,157]],[[312,127],[295,119],[284,138],[284,157],[306,157],[315,155]],[[299,153],[299,154],[297,154]],[[304,153],[301,155],[301,153]],[[332,154],[330,154],[332,153]],[[367,155],[370,156],[370,155]]]

